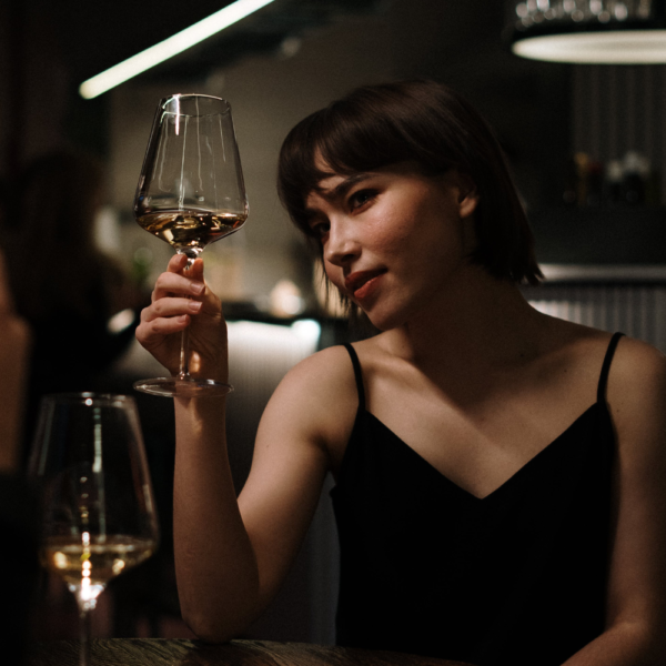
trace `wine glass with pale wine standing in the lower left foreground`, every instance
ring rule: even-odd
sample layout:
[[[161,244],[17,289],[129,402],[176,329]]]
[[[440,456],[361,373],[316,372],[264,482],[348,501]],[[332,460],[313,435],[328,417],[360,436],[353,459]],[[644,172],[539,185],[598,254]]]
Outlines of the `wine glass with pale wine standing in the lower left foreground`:
[[[88,666],[90,612],[99,595],[158,547],[134,400],[93,393],[42,398],[29,472],[42,491],[42,564],[77,597],[79,663]]]

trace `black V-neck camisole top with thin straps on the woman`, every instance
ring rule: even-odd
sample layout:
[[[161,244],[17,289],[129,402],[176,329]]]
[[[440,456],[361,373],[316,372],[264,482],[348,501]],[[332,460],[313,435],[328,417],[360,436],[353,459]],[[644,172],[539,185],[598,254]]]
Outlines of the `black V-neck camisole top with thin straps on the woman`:
[[[478,666],[559,666],[604,630],[615,440],[597,401],[484,498],[359,411],[331,496],[337,643]],[[443,432],[445,437],[446,433]]]

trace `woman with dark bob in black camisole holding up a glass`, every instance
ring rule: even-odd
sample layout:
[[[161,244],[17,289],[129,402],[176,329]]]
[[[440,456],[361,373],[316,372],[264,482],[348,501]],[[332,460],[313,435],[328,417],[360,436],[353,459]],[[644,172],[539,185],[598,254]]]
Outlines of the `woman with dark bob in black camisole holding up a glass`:
[[[380,333],[293,369],[238,503],[223,402],[176,400],[183,615],[208,640],[280,587],[327,472],[343,645],[500,665],[660,664],[666,362],[532,309],[541,275],[502,152],[432,82],[362,88],[302,121],[280,193]],[[185,296],[191,296],[188,299]],[[220,303],[173,258],[139,340],[226,381]]]

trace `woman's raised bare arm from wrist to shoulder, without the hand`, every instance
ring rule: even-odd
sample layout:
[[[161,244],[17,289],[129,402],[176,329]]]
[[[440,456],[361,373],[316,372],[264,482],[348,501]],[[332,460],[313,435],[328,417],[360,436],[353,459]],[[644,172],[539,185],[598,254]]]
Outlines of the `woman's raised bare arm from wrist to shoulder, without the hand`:
[[[183,617],[203,639],[226,640],[251,624],[299,552],[330,467],[331,416],[323,405],[331,402],[317,405],[313,381],[330,355],[302,362],[275,391],[238,503],[224,437],[226,398],[176,401],[178,588]],[[329,384],[329,397],[334,393]]]

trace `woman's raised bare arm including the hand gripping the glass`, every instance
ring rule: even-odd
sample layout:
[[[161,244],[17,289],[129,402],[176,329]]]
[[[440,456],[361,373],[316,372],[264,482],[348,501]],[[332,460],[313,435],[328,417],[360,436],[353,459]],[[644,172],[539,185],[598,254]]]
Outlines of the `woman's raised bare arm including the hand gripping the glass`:
[[[174,258],[160,276],[138,337],[172,373],[179,336],[191,326],[192,370],[228,381],[220,304],[203,284],[202,265],[185,278]],[[192,294],[201,309],[190,317]],[[222,350],[222,353],[220,353]],[[343,352],[344,353],[344,352]],[[175,401],[174,548],[183,618],[202,639],[223,642],[251,624],[271,602],[310,525],[329,470],[325,442],[344,437],[355,405],[346,365],[324,372],[340,350],[304,361],[283,380],[262,417],[250,477],[236,501],[224,437],[226,398]],[[349,361],[347,361],[349,364]],[[334,363],[337,366],[340,364]],[[323,375],[327,376],[322,384]],[[346,396],[346,397],[344,397]],[[346,400],[346,403],[345,403]],[[351,418],[333,417],[341,403]],[[349,404],[347,404],[349,403]]]

